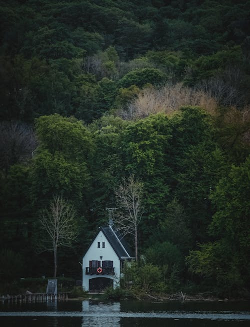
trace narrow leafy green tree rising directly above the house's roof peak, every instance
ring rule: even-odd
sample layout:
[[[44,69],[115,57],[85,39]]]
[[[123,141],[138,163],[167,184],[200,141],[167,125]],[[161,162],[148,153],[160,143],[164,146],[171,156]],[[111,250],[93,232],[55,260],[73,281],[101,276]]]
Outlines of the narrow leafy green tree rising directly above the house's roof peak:
[[[90,205],[103,223],[106,222],[104,209],[107,205],[114,205],[113,190],[124,174],[120,138],[126,126],[127,123],[118,117],[102,116],[88,127],[95,144],[89,157],[93,183]]]

